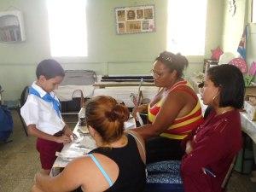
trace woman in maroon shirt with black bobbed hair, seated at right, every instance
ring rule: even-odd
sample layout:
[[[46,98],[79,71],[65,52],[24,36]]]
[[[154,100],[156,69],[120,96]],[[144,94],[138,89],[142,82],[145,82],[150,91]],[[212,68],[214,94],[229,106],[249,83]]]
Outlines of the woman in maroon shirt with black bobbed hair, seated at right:
[[[211,67],[202,100],[212,110],[187,139],[181,173],[188,192],[220,192],[231,161],[241,149],[241,121],[245,85],[237,67]]]

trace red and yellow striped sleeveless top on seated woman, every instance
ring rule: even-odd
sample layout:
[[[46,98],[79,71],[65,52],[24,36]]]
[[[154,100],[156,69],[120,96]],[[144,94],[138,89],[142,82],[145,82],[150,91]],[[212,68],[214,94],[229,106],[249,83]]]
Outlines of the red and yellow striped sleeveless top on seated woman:
[[[197,103],[195,105],[195,108],[193,110],[181,117],[174,119],[172,125],[163,133],[160,134],[161,137],[168,137],[172,139],[183,139],[184,137],[187,137],[189,132],[194,130],[198,125],[201,125],[203,121],[203,117],[201,114],[201,104],[199,102],[198,97],[195,95],[195,92],[192,92],[188,87],[191,87],[191,85],[188,83],[188,81],[179,81],[176,84],[172,86],[172,88],[168,91],[168,93],[172,91],[185,91],[186,93],[189,93],[189,95],[193,96],[195,100],[197,100]],[[192,89],[193,90],[193,89]],[[162,103],[164,102],[165,97],[162,97],[159,102],[155,103],[154,106],[150,108],[150,103],[148,105],[148,120],[152,123],[155,119],[155,116],[157,113],[159,113]]]

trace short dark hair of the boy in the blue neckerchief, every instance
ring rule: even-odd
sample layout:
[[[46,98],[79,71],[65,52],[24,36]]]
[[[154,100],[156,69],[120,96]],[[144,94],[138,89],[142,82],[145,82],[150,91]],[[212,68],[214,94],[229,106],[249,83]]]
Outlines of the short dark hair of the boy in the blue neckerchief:
[[[52,79],[56,76],[65,76],[65,72],[64,69],[61,67],[61,64],[51,59],[39,62],[36,74],[38,79],[40,75],[44,75],[45,79]]]

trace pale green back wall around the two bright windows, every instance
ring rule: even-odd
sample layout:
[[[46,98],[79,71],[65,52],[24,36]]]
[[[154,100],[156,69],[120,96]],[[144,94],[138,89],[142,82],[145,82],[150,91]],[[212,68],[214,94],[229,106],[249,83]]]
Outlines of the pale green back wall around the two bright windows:
[[[1,11],[20,9],[24,14],[26,28],[26,42],[0,44],[0,84],[5,90],[3,94],[5,100],[18,99],[23,87],[31,84],[35,79],[34,71],[37,63],[50,57],[45,2],[46,0],[1,0],[0,2]],[[65,69],[91,69],[97,74],[148,74],[154,57],[166,49],[167,0],[88,0],[87,2],[88,57],[56,60],[60,61]],[[155,6],[156,32],[116,35],[114,8],[143,4]],[[208,1],[206,57],[211,55],[211,49],[221,43],[223,7],[223,0]],[[202,70],[203,57],[189,57],[187,75]]]

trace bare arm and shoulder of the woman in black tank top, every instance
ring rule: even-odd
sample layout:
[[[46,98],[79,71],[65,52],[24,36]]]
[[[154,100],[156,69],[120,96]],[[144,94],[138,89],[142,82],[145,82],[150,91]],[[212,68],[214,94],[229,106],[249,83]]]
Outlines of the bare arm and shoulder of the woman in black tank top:
[[[103,154],[94,154],[113,183],[119,175],[117,164]],[[81,187],[84,191],[105,191],[109,183],[90,156],[80,157],[67,164],[56,177],[38,173],[33,192],[70,192]],[[41,191],[40,191],[41,190]]]

